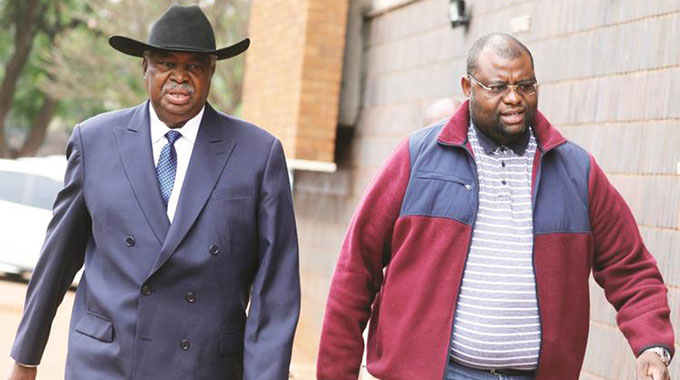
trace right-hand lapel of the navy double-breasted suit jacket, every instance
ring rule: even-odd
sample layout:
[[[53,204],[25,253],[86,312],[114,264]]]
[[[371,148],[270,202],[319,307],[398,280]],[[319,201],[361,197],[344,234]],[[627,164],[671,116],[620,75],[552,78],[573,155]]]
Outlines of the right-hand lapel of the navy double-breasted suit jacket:
[[[175,252],[203,210],[236,142],[223,138],[217,112],[206,104],[189,167],[182,185],[177,210],[151,273]]]

